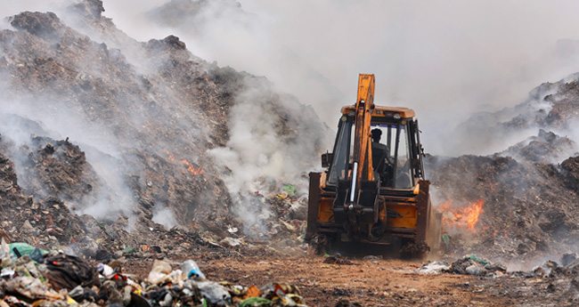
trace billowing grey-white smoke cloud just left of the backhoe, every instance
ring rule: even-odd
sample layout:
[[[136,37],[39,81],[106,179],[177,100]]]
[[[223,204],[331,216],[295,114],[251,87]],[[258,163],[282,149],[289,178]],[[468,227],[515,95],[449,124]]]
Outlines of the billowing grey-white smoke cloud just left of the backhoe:
[[[263,222],[272,213],[260,194],[280,192],[281,182],[306,187],[301,174],[315,166],[320,147],[329,146],[330,138],[313,109],[295,97],[275,93],[263,78],[247,78],[244,84],[230,110],[229,141],[209,153],[222,167],[221,177],[246,230],[264,235]]]

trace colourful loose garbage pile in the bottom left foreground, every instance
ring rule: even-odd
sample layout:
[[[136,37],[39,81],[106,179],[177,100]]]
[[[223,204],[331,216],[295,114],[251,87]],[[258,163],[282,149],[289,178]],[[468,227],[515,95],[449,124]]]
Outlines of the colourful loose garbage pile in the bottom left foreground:
[[[208,280],[192,260],[177,270],[156,260],[148,277],[140,279],[118,261],[93,265],[25,243],[7,245],[4,239],[0,258],[2,306],[306,306],[298,287]]]

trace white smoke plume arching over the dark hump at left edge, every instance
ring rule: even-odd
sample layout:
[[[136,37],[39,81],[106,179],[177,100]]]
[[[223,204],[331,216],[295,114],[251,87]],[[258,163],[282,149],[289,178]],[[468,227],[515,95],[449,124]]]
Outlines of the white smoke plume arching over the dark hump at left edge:
[[[123,213],[129,215],[131,218],[129,222],[135,222],[131,212],[134,200],[122,177],[123,166],[120,152],[118,146],[110,141],[114,139],[114,136],[107,129],[103,129],[100,125],[89,124],[86,118],[79,118],[77,114],[70,112],[69,106],[50,97],[45,97],[40,101],[38,98],[4,99],[0,101],[0,106],[2,106],[0,111],[2,134],[6,141],[12,141],[17,148],[29,146],[30,136],[41,133],[40,135],[55,140],[69,138],[86,152],[87,161],[94,167],[105,186],[102,192],[96,195],[96,203],[90,206],[77,204],[80,205],[79,214],[91,214],[99,219],[110,219],[111,213]],[[42,129],[31,129],[30,126],[22,125],[12,119],[14,116],[34,121]],[[31,145],[29,147],[34,148]],[[18,155],[11,158],[17,166],[22,165],[20,159],[26,159]],[[17,171],[20,171],[20,167],[17,167]],[[26,183],[23,182],[25,188]]]

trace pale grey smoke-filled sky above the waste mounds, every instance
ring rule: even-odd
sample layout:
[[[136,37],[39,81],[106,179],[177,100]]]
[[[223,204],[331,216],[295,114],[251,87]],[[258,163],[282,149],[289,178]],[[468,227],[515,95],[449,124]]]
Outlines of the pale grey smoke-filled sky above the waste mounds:
[[[209,1],[197,28],[144,18],[167,0],[105,0],[104,14],[138,40],[175,34],[201,58],[264,75],[332,128],[355,101],[357,75],[373,73],[376,101],[415,109],[433,143],[473,111],[513,106],[534,86],[579,71],[579,47],[558,44],[578,36],[577,1],[240,2],[249,15]],[[35,5],[47,4],[0,1],[6,13]]]

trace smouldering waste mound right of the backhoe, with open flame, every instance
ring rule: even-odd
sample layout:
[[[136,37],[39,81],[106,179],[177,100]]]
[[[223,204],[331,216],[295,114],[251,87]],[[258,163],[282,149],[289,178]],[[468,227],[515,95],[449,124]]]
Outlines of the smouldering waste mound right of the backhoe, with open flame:
[[[573,75],[541,85],[517,107],[479,114],[460,129],[487,147],[524,141],[489,156],[426,158],[446,254],[530,261],[575,250],[579,155],[559,134],[574,135],[577,84]]]

